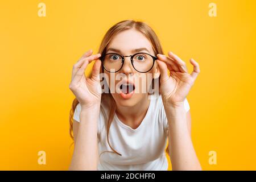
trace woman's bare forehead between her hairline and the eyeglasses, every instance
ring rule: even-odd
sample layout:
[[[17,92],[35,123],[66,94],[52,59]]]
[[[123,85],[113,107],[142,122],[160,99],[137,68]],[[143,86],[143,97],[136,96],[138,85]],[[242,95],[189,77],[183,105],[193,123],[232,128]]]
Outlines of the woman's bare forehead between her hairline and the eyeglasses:
[[[113,37],[108,44],[108,48],[115,48],[121,50],[124,55],[133,53],[133,49],[147,48],[150,53],[154,53],[150,41],[139,31],[130,29],[119,32]]]

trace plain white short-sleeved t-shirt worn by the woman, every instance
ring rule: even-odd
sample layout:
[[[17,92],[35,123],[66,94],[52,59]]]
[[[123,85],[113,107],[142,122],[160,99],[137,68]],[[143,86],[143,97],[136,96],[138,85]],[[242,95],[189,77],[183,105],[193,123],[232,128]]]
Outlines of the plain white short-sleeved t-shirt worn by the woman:
[[[189,110],[187,98],[184,108]],[[78,104],[74,119],[80,121],[81,105]],[[151,96],[147,113],[137,127],[132,129],[119,120],[117,115],[109,130],[109,142],[119,156],[109,147],[106,137],[106,123],[109,109],[101,103],[98,119],[98,152],[100,160],[98,170],[167,170],[168,161],[165,148],[167,145],[168,122],[164,111],[162,97]]]

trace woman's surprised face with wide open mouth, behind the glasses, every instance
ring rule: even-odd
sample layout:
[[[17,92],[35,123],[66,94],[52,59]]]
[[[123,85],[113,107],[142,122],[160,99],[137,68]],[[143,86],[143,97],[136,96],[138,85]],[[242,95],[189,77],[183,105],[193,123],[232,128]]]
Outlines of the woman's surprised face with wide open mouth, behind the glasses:
[[[140,48],[143,49],[138,50]],[[137,50],[135,51],[134,49]],[[121,56],[130,56],[138,52],[149,53],[156,57],[150,41],[141,32],[134,29],[120,32],[114,36],[108,47],[106,47],[106,54],[118,53]],[[143,60],[143,56],[138,56],[135,56],[134,59]],[[110,58],[112,60],[117,59],[116,56]],[[143,67],[143,63],[139,64],[141,65],[138,66]],[[125,57],[123,67],[118,72],[110,73],[106,70],[104,72],[108,75],[106,81],[115,102],[118,105],[129,107],[137,105],[148,97],[148,89],[151,86],[152,78],[157,78],[160,74],[156,61],[150,71],[141,73],[134,69],[130,57]]]

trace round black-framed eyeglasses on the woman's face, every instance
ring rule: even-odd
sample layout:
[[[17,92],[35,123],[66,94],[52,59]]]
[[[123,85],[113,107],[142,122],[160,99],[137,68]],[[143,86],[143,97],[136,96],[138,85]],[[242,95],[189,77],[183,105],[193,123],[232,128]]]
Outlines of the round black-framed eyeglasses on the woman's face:
[[[140,73],[150,71],[154,66],[155,60],[158,59],[149,53],[138,52],[130,56],[121,56],[118,53],[107,53],[102,55],[100,60],[102,61],[103,68],[106,71],[115,73],[123,67],[125,57],[131,57],[131,64],[133,65],[133,68]]]

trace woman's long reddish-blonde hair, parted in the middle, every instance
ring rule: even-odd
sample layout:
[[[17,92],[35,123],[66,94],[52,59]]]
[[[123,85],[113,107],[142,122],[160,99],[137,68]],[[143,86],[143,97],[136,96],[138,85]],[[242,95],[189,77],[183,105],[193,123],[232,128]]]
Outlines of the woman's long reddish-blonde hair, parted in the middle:
[[[155,55],[157,55],[158,53],[164,54],[162,46],[158,39],[158,36],[156,36],[154,30],[152,30],[152,28],[150,26],[148,26],[146,23],[140,22],[140,21],[135,21],[135,20],[123,20],[121,22],[114,24],[114,26],[112,26],[104,35],[104,38],[102,39],[100,47],[98,49],[98,53],[101,53],[101,55],[104,55],[106,53],[106,47],[108,46],[109,42],[113,39],[113,37],[115,35],[117,35],[119,32],[122,32],[125,30],[130,30],[132,28],[141,32],[150,41]],[[101,65],[101,67],[102,67],[102,65]],[[101,72],[102,72],[102,69],[101,69]],[[92,72],[90,73],[90,76],[91,75],[92,75]],[[157,79],[160,79],[160,77],[158,77]],[[153,79],[152,80],[152,88],[153,89],[154,89],[154,81],[155,80]],[[158,80],[158,83],[159,83],[158,85],[160,86],[159,80]],[[109,105],[111,106],[109,108],[110,110],[109,110],[109,115],[108,115],[108,122],[106,125],[108,144],[109,144],[110,148],[113,150],[110,152],[114,152],[115,154],[121,155],[117,151],[114,150],[114,148],[111,146],[111,144],[109,142],[109,129],[110,129],[110,125],[113,121],[115,109],[116,109],[116,104],[115,104],[114,98],[110,92],[102,93],[101,102],[106,101],[106,100],[108,100],[107,102],[109,102]],[[74,114],[76,106],[78,104],[79,104],[79,101],[77,100],[77,98],[75,98],[75,100],[73,100],[73,102],[72,102],[72,107],[69,112],[69,124],[70,124],[69,134],[71,135],[72,139],[73,139],[73,114]],[[167,146],[167,148],[166,148],[167,154],[169,154],[168,148],[169,147]]]

